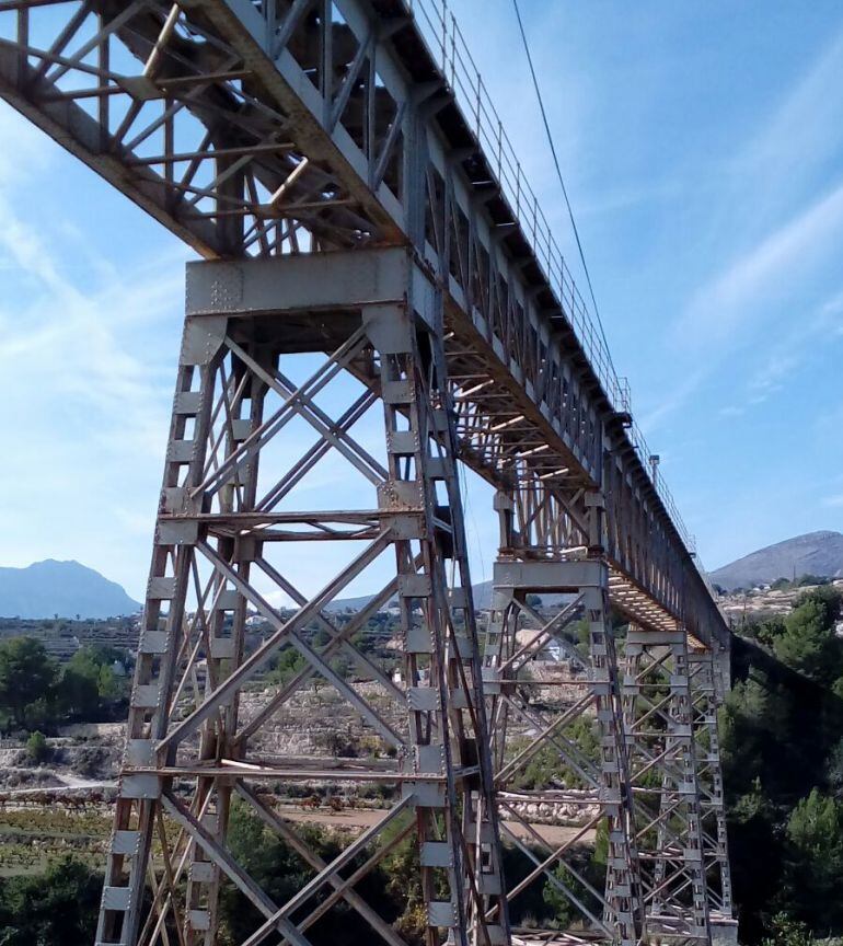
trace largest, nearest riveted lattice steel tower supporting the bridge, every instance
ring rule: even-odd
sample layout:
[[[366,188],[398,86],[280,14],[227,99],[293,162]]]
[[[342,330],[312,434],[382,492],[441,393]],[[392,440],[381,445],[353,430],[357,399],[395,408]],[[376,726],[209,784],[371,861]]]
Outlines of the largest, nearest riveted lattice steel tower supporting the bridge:
[[[206,276],[210,281],[204,284]],[[344,888],[339,872],[348,851],[334,864],[308,856],[311,866],[317,864],[316,874],[287,904],[272,902],[236,864],[227,849],[232,791],[265,823],[277,824],[256,789],[284,777],[394,786],[392,811],[367,832],[360,850],[373,849],[376,864],[382,830],[412,815],[429,946],[443,937],[463,946],[507,944],[441,309],[437,319],[436,307],[425,304],[423,318],[406,301],[413,287],[399,278],[401,301],[323,312],[310,322],[310,344],[331,354],[321,356],[307,381],[296,383],[285,372],[289,353],[308,345],[299,310],[285,311],[279,302],[267,318],[242,304],[238,309],[215,278],[212,270],[192,270],[192,304],[207,297],[227,314],[193,314],[185,325],[97,944],[151,946],[166,943],[168,928],[174,927],[187,946],[210,946],[223,876],[264,918],[244,946],[279,933],[305,946],[307,928],[324,909],[311,911],[311,919],[291,916],[325,885],[337,891],[334,902],[344,899],[381,939],[400,944],[372,904]],[[419,293],[419,301],[435,303],[432,289]],[[342,378],[359,387],[359,409],[334,420],[322,395]],[[361,446],[349,423],[378,397],[382,460]],[[316,436],[312,448],[298,448],[303,454],[298,460],[295,452],[277,450],[293,420]],[[300,440],[299,434],[292,442]],[[368,481],[371,506],[356,514],[302,510],[302,482],[335,454]],[[310,600],[284,575],[295,554],[288,550],[305,541],[362,545]],[[394,577],[377,596],[376,608],[396,597],[401,684],[350,643],[365,616],[353,620],[350,630],[340,628],[325,611],[350,580],[377,559],[382,565],[390,552]],[[298,609],[279,612],[268,601],[276,592],[291,597]],[[270,628],[268,639],[251,651],[244,642],[247,612]],[[327,632],[326,644],[309,635],[314,621]],[[290,647],[307,671],[243,717],[244,688]],[[351,658],[353,672],[335,669],[338,654]],[[313,677],[333,685],[394,761],[360,766],[333,758],[314,765],[267,752],[262,729]],[[380,691],[377,703],[370,684]],[[282,837],[291,831],[288,826]],[[299,841],[302,845],[307,849]],[[151,909],[143,900],[148,876]]]

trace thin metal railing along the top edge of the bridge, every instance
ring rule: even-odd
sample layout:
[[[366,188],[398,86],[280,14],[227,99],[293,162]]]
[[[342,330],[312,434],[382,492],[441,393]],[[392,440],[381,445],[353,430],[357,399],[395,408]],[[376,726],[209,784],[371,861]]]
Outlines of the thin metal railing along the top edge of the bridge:
[[[448,0],[404,0],[404,2],[408,12],[415,18],[419,32],[446,81],[450,84],[463,118],[474,131],[492,174],[496,177],[496,183],[531,242],[547,282],[562,303],[565,315],[588,356],[603,391],[616,411],[631,413],[630,388],[626,379],[619,378],[615,373],[602,332],[596,327],[588,305],[577,289],[565,257],[553,236],[547,218],[539,206],[539,198],[524,177],[521,162],[483,84],[483,77],[472,58],[457,19],[448,8]],[[653,481],[680,538],[685,547],[695,553],[695,540],[682,521],[663,477],[654,477],[649,470],[649,458],[653,454],[638,425],[633,422],[628,432],[633,446],[639,452],[642,465]]]

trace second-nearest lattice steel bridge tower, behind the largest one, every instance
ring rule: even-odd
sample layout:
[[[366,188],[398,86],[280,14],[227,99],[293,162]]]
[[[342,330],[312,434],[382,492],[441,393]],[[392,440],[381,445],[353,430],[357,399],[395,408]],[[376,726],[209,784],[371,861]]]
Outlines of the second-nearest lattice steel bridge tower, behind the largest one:
[[[496,498],[501,557],[495,566],[484,659],[500,808],[511,820],[521,822],[531,844],[520,842],[511,829],[505,834],[534,865],[524,880],[509,882],[508,896],[518,897],[535,881],[550,884],[573,904],[579,923],[592,934],[613,943],[635,944],[643,934],[644,904],[633,838],[617,658],[608,613],[609,572],[600,557],[589,558],[582,550],[566,549],[564,523],[541,515],[539,507],[550,497],[540,482],[524,481],[519,493],[515,499],[505,494]],[[530,493],[534,494],[532,500]],[[536,501],[536,494],[544,499]],[[599,497],[593,498],[587,504],[588,519],[599,532],[601,504]],[[524,519],[528,509],[531,511]],[[543,555],[539,554],[540,546]],[[534,561],[536,557],[545,561]],[[569,600],[547,619],[530,604],[531,593],[565,593]],[[578,654],[567,636],[578,621],[586,628],[587,654]],[[532,677],[528,669],[531,661],[551,643],[568,656],[571,666],[580,668],[578,676],[565,682]],[[584,726],[597,730],[596,757],[578,743],[577,730]],[[516,739],[519,731],[521,740]],[[513,791],[519,776],[540,753],[557,760],[553,780],[527,792]],[[564,804],[579,809],[582,830],[562,846],[548,844],[541,827],[530,824],[519,814],[517,806],[524,798],[534,805]],[[571,861],[582,838],[600,826],[607,827],[609,842],[603,889],[594,888]]]

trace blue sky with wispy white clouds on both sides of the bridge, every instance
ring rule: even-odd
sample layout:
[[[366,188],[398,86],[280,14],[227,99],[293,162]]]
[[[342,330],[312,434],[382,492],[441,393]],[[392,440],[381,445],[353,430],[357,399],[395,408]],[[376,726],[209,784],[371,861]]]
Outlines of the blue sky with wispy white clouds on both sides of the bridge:
[[[521,3],[614,362],[703,558],[843,528],[843,7]],[[451,5],[565,240],[510,3]],[[0,104],[0,564],[141,597],[187,258]]]

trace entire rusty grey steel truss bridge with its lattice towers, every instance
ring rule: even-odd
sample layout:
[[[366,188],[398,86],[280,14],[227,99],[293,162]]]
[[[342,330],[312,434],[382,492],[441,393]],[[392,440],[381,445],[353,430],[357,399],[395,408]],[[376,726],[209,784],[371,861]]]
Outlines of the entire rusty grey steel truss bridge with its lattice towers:
[[[509,920],[532,884],[570,901],[559,942],[734,932],[716,725],[728,632],[443,0],[0,0],[0,95],[201,257],[97,946],[210,946],[224,884],[258,918],[241,946],[307,946],[338,907],[369,942],[403,946],[356,887],[406,837],[428,946],[533,942]],[[314,504],[328,463],[359,482],[360,508],[332,508],[330,488]],[[461,465],[494,484],[500,522],[481,628]],[[345,552],[336,574],[312,555],[326,542]],[[302,555],[312,598],[286,577]],[[340,622],[332,600],[386,566]],[[531,592],[568,603],[548,621]],[[395,678],[354,643],[393,601]],[[622,654],[610,611],[628,625]],[[253,613],[272,631],[247,650]],[[575,622],[587,667],[547,697],[523,668],[551,642],[569,649]],[[287,648],[304,669],[244,700]],[[320,678],[378,758],[267,748]],[[575,738],[584,720],[596,753]],[[511,791],[542,752],[559,774],[529,800],[586,812],[563,844]],[[314,780],[393,799],[333,863],[267,794]],[[287,902],[227,844],[235,796],[312,872]],[[574,856],[598,824],[604,885]],[[517,878],[504,845],[523,854]]]

